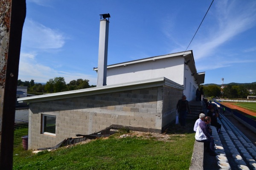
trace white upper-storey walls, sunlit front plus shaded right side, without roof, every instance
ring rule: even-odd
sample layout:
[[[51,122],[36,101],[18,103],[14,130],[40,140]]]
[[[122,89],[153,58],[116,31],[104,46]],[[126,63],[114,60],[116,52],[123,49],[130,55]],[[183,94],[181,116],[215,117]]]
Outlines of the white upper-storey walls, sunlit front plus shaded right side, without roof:
[[[195,88],[198,88],[198,85],[195,83],[195,78],[191,76],[189,66],[184,62],[184,57],[171,57],[108,68],[107,85],[166,77],[180,85],[186,83],[183,94],[186,95],[187,100],[192,100],[195,99]]]

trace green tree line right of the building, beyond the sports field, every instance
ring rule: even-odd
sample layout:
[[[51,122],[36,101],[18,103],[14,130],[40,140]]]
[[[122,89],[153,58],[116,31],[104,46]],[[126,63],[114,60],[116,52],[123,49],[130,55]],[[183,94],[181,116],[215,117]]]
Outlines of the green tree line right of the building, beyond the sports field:
[[[227,85],[223,89],[218,85],[201,86],[204,89],[206,97],[223,97],[223,98],[247,98],[247,96],[256,95],[256,84],[248,85]],[[250,93],[249,90],[252,90]]]

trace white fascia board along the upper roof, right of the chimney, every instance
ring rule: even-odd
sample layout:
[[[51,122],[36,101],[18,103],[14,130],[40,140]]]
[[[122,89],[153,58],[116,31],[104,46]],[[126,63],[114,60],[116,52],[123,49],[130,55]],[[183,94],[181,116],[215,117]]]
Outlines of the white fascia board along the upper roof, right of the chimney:
[[[184,57],[188,54],[192,54],[192,51],[183,51],[183,52],[179,52],[179,53],[166,54],[166,55],[161,55],[161,56],[149,57],[149,58],[145,58],[145,59],[137,59],[137,60],[128,61],[128,62],[121,62],[118,64],[108,65],[107,68],[127,66],[127,65],[132,65],[132,64],[138,64],[141,62],[155,61],[158,59],[166,59],[166,58],[170,58],[170,57],[179,57],[179,56]],[[98,68],[93,68],[93,70],[98,71]]]

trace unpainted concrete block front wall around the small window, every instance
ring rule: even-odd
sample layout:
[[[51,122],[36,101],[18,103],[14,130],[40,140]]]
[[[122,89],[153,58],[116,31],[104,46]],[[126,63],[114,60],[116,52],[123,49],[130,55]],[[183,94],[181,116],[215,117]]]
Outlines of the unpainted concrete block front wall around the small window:
[[[172,100],[163,97],[164,91],[160,86],[30,103],[29,149],[53,147],[67,137],[95,133],[111,125],[161,133],[163,99]],[[41,133],[42,114],[56,116],[56,136]]]

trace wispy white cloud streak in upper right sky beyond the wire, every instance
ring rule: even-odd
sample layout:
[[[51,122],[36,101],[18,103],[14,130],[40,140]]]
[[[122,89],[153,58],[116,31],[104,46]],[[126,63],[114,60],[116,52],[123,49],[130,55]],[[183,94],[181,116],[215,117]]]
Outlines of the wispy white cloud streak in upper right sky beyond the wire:
[[[206,34],[203,40],[194,41],[192,49],[197,51],[195,59],[209,56],[220,45],[255,26],[255,5],[256,3],[251,4],[251,6],[239,6],[239,4],[225,1],[217,3],[215,12],[218,16],[218,23],[216,23],[215,28],[214,24],[212,25],[212,32]]]

